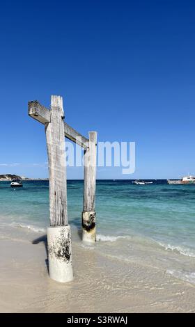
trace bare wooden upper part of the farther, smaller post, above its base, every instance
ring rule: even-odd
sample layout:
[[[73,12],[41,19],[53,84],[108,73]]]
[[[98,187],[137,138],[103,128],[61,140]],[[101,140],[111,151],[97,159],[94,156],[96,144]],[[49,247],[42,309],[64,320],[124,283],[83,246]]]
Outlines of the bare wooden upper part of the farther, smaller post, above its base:
[[[95,211],[97,132],[89,132],[88,149],[84,152],[84,212]]]

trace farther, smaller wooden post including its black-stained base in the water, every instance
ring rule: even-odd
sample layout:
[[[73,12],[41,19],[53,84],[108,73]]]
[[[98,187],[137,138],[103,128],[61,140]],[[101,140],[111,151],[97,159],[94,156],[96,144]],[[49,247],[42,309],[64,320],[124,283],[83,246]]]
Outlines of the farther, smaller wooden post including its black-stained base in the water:
[[[96,241],[95,178],[97,132],[89,132],[88,148],[84,151],[84,206],[82,212],[82,239]]]

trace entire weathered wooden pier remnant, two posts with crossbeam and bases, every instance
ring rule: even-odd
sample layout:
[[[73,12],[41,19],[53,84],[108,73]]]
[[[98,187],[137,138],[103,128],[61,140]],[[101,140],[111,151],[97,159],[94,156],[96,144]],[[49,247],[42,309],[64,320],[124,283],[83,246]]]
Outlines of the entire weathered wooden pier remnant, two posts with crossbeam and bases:
[[[47,244],[49,276],[59,282],[73,279],[72,244],[67,212],[65,137],[84,148],[83,241],[95,242],[95,173],[97,133],[89,140],[64,122],[63,98],[51,97],[51,109],[38,101],[29,102],[29,115],[45,125],[49,166],[49,218]]]

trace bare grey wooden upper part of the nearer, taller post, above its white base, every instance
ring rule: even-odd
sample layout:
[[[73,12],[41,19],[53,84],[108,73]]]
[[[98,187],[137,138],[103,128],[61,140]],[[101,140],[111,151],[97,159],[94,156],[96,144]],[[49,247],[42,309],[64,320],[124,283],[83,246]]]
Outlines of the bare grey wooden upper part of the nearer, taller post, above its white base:
[[[68,224],[63,99],[52,95],[50,122],[45,124],[49,166],[51,226]]]

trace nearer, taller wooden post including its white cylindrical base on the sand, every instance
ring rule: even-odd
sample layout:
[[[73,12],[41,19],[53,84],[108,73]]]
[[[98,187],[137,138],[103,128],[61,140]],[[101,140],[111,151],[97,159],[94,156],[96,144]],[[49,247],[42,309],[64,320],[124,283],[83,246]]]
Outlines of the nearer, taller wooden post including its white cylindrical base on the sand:
[[[47,228],[49,276],[58,282],[73,279],[72,246],[67,213],[67,184],[63,99],[52,96],[50,122],[45,124],[49,166],[49,213]]]

